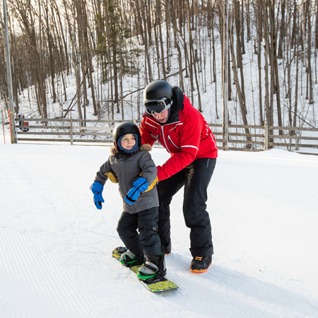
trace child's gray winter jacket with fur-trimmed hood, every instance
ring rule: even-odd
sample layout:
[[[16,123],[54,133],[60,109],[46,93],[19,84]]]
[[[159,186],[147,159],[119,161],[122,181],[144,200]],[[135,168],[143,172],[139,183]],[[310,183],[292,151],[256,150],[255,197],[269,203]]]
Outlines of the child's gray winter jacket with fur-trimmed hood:
[[[129,190],[134,187],[134,182],[140,177],[139,174],[141,172],[143,172],[142,177],[147,179],[149,185],[155,181],[157,177],[157,167],[151,159],[149,151],[151,151],[151,146],[146,144],[141,146],[139,152],[134,153],[134,155],[119,155],[116,152],[116,148],[112,147],[112,155],[110,155],[106,163],[104,163],[96,173],[94,181],[105,185],[108,179],[105,172],[110,170],[114,172],[119,183],[119,193],[123,199],[124,212],[137,213],[147,208],[159,206],[157,186],[148,192],[141,192],[134,204],[129,205],[124,201],[124,197]]]

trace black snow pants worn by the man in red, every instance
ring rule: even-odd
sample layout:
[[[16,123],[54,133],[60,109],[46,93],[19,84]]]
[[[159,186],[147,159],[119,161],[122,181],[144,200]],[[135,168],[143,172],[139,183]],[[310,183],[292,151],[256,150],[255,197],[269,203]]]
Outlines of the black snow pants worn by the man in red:
[[[184,186],[183,214],[190,228],[190,252],[192,257],[207,257],[213,254],[211,222],[206,211],[207,188],[216,167],[216,159],[201,158],[160,181],[158,228],[163,236],[163,247],[170,245],[170,203]]]

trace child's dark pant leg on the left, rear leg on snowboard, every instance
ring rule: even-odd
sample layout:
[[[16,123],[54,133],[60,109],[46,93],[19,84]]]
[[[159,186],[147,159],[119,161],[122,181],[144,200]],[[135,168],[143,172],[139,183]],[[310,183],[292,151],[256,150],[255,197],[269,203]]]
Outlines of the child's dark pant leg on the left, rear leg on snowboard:
[[[117,232],[125,247],[138,257],[143,255],[143,246],[141,245],[138,228],[138,213],[123,212],[119,218]]]

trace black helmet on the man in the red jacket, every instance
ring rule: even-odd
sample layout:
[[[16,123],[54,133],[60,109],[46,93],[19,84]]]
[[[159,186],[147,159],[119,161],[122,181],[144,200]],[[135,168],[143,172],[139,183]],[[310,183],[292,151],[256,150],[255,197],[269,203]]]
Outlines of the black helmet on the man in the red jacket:
[[[153,81],[143,90],[143,104],[163,98],[171,99],[172,95],[172,88],[169,83],[163,80]]]

